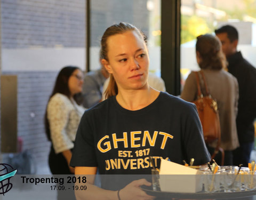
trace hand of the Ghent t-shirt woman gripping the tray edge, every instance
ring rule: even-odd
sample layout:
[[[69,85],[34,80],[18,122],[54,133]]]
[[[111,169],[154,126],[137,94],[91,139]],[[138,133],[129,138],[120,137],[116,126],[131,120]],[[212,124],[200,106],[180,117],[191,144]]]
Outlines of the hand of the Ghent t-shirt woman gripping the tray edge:
[[[125,186],[119,191],[120,200],[151,200],[154,199],[154,196],[147,195],[140,186],[151,186],[151,183],[146,179],[135,180]]]

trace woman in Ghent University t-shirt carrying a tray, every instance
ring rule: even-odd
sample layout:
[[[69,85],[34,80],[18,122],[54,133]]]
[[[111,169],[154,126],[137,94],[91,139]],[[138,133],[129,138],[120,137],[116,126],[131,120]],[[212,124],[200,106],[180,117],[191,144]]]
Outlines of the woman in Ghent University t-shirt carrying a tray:
[[[151,174],[149,156],[157,167],[161,157],[179,164],[191,158],[195,165],[210,161],[195,105],[149,86],[149,55],[141,31],[125,22],[110,26],[100,55],[110,74],[107,100],[81,119],[70,162],[75,174],[96,174],[98,169],[139,179],[139,174]],[[120,165],[110,164],[117,160]],[[154,199],[140,188],[151,185],[146,179],[103,179],[98,188],[92,185],[94,177],[86,177],[89,190],[76,191],[77,199]]]

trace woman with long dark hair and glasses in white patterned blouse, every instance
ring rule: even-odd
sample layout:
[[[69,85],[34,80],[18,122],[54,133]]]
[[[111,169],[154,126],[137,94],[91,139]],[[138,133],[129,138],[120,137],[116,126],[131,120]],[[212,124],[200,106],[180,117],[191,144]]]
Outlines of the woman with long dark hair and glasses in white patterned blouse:
[[[52,142],[49,166],[52,174],[74,174],[69,166],[78,124],[84,112],[79,106],[83,73],[78,67],[60,70],[45,113],[47,138]]]

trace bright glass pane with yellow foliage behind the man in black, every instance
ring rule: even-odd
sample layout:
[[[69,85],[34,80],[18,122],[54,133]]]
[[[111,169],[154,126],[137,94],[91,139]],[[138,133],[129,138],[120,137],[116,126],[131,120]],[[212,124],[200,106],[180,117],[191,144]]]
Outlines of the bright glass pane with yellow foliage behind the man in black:
[[[230,24],[239,33],[238,51],[256,66],[256,1],[255,0],[182,0],[181,1],[181,85],[196,63],[196,37],[212,33]],[[182,86],[181,86],[182,89]]]

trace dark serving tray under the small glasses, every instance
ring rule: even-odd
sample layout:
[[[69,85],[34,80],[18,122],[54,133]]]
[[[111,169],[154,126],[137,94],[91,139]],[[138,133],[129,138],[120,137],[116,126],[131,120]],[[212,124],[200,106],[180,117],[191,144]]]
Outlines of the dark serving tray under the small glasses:
[[[186,198],[186,199],[218,199],[218,198],[241,198],[256,195],[256,190],[251,191],[234,191],[230,193],[171,193],[166,191],[153,191],[146,187],[141,187],[148,195],[161,197],[164,199]]]

